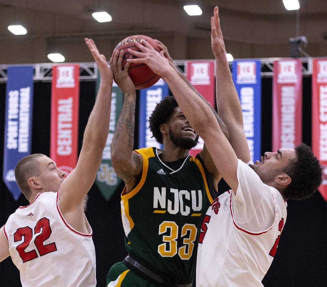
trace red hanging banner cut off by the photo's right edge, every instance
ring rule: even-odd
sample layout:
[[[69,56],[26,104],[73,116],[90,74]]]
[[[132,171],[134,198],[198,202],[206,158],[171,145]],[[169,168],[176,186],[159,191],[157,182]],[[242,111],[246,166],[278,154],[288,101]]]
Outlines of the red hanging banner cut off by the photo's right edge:
[[[327,58],[313,59],[311,136],[312,151],[323,170],[318,190],[327,201]]]

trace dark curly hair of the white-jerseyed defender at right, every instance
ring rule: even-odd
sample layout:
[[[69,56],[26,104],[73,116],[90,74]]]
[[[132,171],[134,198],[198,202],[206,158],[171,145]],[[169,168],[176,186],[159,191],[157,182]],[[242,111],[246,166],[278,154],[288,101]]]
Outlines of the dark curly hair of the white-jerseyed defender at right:
[[[292,181],[284,189],[287,199],[301,200],[315,193],[322,183],[322,169],[311,148],[304,143],[295,148],[296,158],[291,160],[283,170]]]

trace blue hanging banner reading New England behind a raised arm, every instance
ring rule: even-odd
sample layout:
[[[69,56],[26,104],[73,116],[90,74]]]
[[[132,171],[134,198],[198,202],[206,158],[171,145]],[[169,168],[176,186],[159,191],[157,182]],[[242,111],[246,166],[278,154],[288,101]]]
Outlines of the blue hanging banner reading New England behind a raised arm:
[[[232,76],[241,102],[251,160],[255,162],[261,156],[261,62],[234,61]]]

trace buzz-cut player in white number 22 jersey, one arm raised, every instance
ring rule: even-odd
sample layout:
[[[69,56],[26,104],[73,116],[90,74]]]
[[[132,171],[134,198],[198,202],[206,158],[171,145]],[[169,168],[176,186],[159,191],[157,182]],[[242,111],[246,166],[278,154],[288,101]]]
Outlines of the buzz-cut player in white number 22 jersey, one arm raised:
[[[15,168],[17,184],[30,204],[19,207],[1,227],[0,261],[11,256],[23,287],[96,286],[95,248],[83,200],[94,183],[109,134],[113,75],[93,40],[85,42],[101,84],[76,168],[65,178],[65,172],[43,154],[24,157]]]

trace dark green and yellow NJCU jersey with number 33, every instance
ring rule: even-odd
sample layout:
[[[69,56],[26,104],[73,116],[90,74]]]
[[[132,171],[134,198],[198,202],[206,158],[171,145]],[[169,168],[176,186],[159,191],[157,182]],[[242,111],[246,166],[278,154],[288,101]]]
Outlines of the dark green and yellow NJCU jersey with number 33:
[[[160,160],[162,150],[135,152],[143,156],[142,175],[121,195],[126,248],[172,281],[189,280],[195,275],[203,217],[216,190],[199,156],[188,155],[175,170]]]

